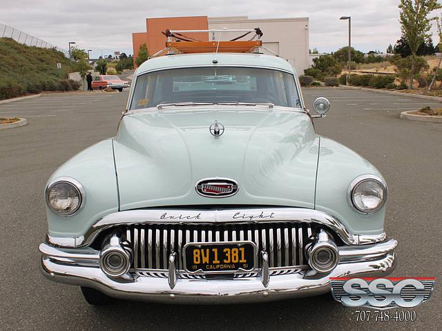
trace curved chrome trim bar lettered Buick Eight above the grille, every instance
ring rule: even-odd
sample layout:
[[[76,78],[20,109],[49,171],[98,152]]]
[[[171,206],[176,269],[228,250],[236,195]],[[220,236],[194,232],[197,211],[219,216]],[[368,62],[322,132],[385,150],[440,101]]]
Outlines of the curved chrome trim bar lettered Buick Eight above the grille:
[[[83,237],[50,240],[55,245],[84,247],[90,245],[99,232],[117,225],[154,224],[213,224],[213,223],[264,223],[293,222],[319,224],[330,228],[349,245],[363,245],[385,240],[385,233],[376,235],[352,234],[338,219],[318,210],[303,208],[262,208],[238,210],[127,210],[108,214],[92,225]],[[74,240],[75,244],[72,244]]]

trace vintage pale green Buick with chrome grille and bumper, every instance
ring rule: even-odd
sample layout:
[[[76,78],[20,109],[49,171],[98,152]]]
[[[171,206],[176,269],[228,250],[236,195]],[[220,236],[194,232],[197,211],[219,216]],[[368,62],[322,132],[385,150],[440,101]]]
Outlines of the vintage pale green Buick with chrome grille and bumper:
[[[294,68],[265,54],[175,54],[135,72],[117,136],[46,187],[41,270],[86,301],[247,303],[385,276],[387,185],[315,133]]]

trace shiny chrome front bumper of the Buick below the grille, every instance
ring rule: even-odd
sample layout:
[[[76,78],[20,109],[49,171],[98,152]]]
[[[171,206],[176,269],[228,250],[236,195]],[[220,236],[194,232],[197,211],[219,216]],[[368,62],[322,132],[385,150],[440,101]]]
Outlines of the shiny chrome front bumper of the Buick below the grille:
[[[55,248],[42,243],[41,271],[52,281],[95,288],[110,297],[162,303],[251,303],[329,292],[330,277],[384,277],[395,267],[391,239],[372,245],[339,248],[340,262],[328,274],[312,270],[269,268],[233,279],[198,279],[177,270],[131,270],[124,277],[110,278],[99,268],[99,251],[90,248]]]

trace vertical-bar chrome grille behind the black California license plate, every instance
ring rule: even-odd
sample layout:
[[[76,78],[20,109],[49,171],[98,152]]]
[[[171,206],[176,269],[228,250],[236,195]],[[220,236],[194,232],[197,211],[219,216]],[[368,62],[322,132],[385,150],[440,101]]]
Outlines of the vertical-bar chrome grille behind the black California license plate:
[[[304,248],[314,234],[309,224],[253,223],[177,225],[145,224],[126,228],[126,239],[133,245],[134,269],[166,270],[169,255],[178,254],[178,268],[183,269],[182,253],[186,243],[216,241],[253,241],[258,252],[269,253],[269,267],[306,265]]]

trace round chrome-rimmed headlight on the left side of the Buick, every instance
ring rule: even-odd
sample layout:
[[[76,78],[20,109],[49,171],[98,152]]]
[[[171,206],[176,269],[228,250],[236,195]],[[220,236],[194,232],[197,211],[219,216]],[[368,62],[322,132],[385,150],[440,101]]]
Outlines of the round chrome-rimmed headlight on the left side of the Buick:
[[[75,214],[84,202],[83,186],[71,178],[59,178],[46,188],[46,203],[56,214]]]

